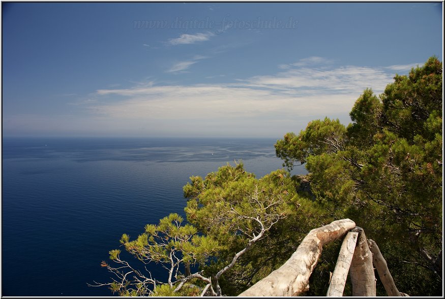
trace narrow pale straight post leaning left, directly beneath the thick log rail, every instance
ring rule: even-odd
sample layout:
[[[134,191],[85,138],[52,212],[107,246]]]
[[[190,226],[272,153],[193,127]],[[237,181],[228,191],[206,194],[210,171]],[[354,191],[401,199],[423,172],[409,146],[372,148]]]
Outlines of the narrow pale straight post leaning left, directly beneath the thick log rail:
[[[358,232],[349,231],[340,248],[335,270],[331,277],[327,296],[343,296],[343,290],[348,277],[349,267],[357,244]]]

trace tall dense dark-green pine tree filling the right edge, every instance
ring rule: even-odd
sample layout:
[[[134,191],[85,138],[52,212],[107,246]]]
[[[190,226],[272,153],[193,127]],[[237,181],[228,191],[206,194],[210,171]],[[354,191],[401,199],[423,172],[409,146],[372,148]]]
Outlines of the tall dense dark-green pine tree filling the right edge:
[[[396,75],[378,96],[366,89],[350,117],[346,127],[325,118],[286,134],[277,156],[289,169],[306,163],[316,203],[365,229],[401,291],[441,293],[442,63]]]

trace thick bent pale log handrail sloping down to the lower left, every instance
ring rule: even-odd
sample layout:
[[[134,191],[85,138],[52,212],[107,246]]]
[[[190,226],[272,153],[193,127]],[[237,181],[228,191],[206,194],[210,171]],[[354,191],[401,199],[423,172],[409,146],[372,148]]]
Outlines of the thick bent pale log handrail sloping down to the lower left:
[[[354,227],[354,221],[342,219],[312,229],[280,268],[239,296],[296,296],[307,291],[309,277],[320,257],[322,246],[343,237]]]

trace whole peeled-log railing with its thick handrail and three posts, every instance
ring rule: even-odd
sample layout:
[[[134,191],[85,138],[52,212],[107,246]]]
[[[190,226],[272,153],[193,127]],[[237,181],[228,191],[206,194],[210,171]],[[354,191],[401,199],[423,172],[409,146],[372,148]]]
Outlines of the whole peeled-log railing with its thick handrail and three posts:
[[[375,296],[374,267],[390,296],[400,293],[387,263],[372,240],[350,219],[331,222],[312,229],[292,256],[277,270],[261,279],[239,296],[297,296],[309,289],[309,277],[321,255],[323,245],[344,238],[327,296],[342,296],[349,272],[352,296]]]

